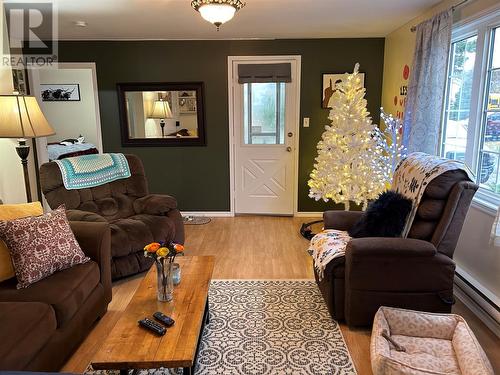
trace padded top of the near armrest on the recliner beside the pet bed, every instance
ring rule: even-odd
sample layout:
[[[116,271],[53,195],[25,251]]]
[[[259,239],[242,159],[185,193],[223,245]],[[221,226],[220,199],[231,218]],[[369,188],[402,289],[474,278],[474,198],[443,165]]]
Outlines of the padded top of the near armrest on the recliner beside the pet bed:
[[[353,238],[347,245],[346,256],[359,257],[430,257],[436,248],[430,242],[400,237]]]

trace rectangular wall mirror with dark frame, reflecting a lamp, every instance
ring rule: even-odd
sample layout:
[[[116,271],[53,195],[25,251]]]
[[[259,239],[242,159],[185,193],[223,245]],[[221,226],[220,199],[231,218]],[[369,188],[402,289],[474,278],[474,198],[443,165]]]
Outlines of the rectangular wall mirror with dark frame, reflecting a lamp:
[[[123,146],[204,146],[203,83],[119,83]]]

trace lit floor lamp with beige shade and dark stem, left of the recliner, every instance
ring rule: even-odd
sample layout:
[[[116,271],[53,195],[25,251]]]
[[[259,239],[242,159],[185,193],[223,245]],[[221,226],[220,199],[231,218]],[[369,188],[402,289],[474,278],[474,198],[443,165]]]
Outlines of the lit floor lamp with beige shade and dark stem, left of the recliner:
[[[24,171],[26,198],[31,202],[28,174],[30,147],[26,138],[47,137],[55,134],[34,96],[0,95],[0,138],[18,138],[17,154]]]

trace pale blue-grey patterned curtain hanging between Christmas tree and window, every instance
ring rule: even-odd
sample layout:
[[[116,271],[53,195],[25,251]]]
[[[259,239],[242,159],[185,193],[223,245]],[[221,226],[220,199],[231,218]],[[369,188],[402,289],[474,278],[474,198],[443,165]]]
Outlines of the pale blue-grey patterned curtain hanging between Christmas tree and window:
[[[408,153],[435,155],[439,150],[452,18],[449,9],[417,26],[403,120],[403,143]]]

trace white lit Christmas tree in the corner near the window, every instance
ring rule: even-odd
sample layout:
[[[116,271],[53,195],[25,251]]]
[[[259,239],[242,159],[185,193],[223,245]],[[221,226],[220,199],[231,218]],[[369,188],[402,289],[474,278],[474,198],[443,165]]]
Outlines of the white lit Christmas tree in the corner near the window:
[[[309,196],[325,202],[350,202],[366,208],[390,182],[385,137],[366,109],[359,64],[336,83],[331,98],[331,124],[318,143],[318,156],[309,180]]]

